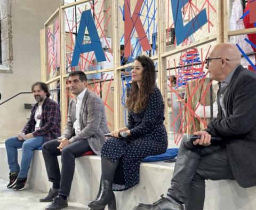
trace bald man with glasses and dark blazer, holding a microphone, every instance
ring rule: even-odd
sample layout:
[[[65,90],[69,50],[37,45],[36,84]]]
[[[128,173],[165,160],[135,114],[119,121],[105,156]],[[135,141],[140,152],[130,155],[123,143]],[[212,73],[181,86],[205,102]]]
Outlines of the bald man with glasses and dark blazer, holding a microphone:
[[[206,59],[210,78],[218,81],[218,117],[194,142],[181,142],[166,197],[134,210],[202,210],[205,180],[236,180],[243,188],[256,185],[256,74],[241,66],[236,45],[218,44]],[[221,141],[211,141],[218,136]]]

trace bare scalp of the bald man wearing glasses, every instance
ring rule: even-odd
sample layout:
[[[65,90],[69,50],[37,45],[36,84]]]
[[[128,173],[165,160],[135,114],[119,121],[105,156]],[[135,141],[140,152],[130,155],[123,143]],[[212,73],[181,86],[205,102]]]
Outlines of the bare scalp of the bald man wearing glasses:
[[[212,53],[214,53],[214,56],[229,59],[230,61],[227,64],[231,68],[235,68],[241,63],[241,53],[235,44],[221,43],[215,45]]]

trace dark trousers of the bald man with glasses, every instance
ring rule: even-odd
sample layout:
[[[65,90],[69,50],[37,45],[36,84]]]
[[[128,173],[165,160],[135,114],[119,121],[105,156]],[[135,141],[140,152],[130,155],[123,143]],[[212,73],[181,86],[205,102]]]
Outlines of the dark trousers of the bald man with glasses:
[[[186,210],[203,210],[205,180],[234,180],[226,148],[182,141],[167,195],[185,204]]]

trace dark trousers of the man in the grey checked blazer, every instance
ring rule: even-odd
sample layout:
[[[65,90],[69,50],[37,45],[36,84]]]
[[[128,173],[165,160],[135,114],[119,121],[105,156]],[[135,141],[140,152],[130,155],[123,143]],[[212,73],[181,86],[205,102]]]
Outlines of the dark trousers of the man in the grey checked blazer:
[[[59,183],[59,195],[69,196],[75,172],[75,158],[81,157],[91,148],[87,140],[80,140],[66,146],[62,152],[57,148],[60,142],[52,140],[42,146],[45,167],[50,182]],[[61,173],[57,156],[61,155]]]

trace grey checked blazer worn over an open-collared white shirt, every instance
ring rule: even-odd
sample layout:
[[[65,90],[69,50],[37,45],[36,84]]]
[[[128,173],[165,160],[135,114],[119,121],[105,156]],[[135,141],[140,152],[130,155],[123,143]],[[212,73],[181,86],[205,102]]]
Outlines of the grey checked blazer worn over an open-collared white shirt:
[[[105,133],[109,133],[105,108],[101,98],[86,90],[80,110],[81,132],[74,135],[73,125],[76,120],[76,99],[71,99],[68,107],[68,122],[62,138],[75,141],[87,140],[95,154],[100,155]]]

